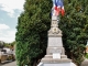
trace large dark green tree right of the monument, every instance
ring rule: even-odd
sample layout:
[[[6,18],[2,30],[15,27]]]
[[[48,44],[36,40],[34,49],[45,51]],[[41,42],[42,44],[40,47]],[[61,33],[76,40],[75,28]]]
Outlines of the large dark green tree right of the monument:
[[[88,38],[88,0],[64,0],[65,16],[61,18],[63,42],[68,57],[78,66],[82,62]]]

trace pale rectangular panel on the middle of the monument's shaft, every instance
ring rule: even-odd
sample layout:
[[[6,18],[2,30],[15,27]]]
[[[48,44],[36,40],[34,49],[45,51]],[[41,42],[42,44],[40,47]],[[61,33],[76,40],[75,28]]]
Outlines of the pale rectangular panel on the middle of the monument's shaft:
[[[48,46],[63,46],[62,37],[48,37]]]

